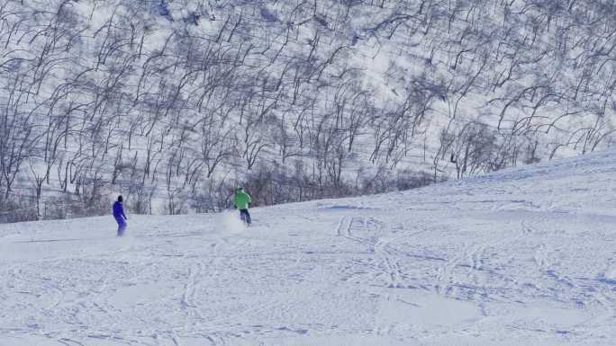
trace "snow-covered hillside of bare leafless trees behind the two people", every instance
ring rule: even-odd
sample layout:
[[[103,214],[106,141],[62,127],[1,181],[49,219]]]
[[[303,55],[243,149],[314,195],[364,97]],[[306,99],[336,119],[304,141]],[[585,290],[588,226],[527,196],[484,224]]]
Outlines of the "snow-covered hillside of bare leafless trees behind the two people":
[[[616,144],[616,4],[0,0],[0,222],[404,190]]]

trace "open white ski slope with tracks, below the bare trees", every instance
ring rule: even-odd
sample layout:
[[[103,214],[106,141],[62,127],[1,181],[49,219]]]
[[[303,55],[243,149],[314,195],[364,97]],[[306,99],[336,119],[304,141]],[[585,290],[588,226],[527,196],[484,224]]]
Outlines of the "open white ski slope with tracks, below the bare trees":
[[[616,340],[616,153],[253,214],[0,226],[0,345]]]

